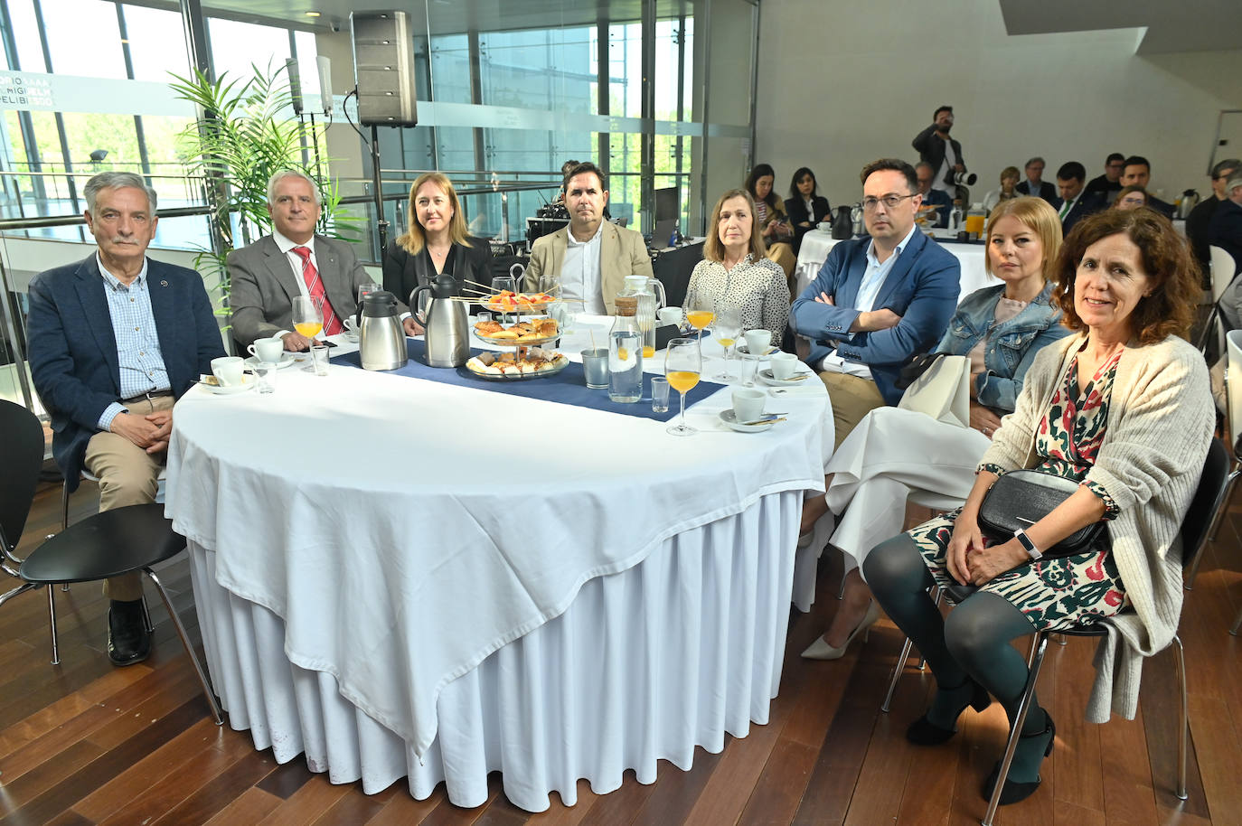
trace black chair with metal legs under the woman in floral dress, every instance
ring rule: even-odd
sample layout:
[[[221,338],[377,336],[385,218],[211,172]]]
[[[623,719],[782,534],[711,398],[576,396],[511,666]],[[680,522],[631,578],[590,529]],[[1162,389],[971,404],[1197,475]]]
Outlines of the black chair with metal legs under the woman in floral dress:
[[[1230,473],[1230,460],[1225,446],[1218,440],[1212,440],[1207,450],[1207,460],[1203,462],[1203,472],[1199,477],[1199,488],[1195,498],[1190,502],[1190,508],[1181,520],[1182,570],[1190,569],[1199,556],[1203,545],[1207,544],[1208,528],[1213,522],[1216,512],[1225,502],[1226,477]],[[1107,622],[1108,620],[1104,620]],[[1100,637],[1108,633],[1103,627],[1104,622],[1081,629],[1059,630],[1071,637]],[[1001,791],[1005,789],[1005,779],[1009,776],[1010,763],[1013,760],[1013,750],[1026,722],[1026,714],[1031,707],[1031,696],[1035,693],[1036,681],[1040,678],[1040,667],[1043,665],[1043,655],[1048,647],[1048,631],[1040,631],[1035,636],[1035,656],[1031,662],[1031,673],[1026,681],[1026,691],[1018,703],[1017,719],[1010,729],[1009,743],[1005,745],[1005,756],[1001,759],[1000,773],[996,778],[996,787],[992,790],[992,799],[987,804],[987,814],[984,816],[982,826],[992,826],[992,817],[1000,805]],[[1177,797],[1186,799],[1186,740],[1190,734],[1190,714],[1186,708],[1186,660],[1182,653],[1181,637],[1174,633],[1172,642],[1176,646],[1177,686],[1181,699],[1181,728],[1177,732]]]

